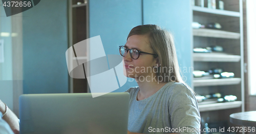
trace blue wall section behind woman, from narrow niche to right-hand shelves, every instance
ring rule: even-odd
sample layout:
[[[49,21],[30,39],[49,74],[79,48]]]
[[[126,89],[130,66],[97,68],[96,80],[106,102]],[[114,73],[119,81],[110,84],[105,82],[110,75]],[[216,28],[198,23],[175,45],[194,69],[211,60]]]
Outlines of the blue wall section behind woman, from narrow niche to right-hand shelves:
[[[89,3],[90,37],[100,35],[106,55],[119,55],[118,46],[126,42],[134,26],[157,24],[174,34],[179,65],[191,86],[193,67],[191,3],[187,0],[93,0]],[[185,67],[185,68],[184,68]],[[131,80],[131,79],[130,79]],[[115,92],[122,92],[137,83],[127,82]]]

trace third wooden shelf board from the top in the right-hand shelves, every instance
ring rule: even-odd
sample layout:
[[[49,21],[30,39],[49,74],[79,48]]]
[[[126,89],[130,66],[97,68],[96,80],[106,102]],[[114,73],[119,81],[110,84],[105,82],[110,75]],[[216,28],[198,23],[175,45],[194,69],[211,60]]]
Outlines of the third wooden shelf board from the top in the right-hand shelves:
[[[227,53],[193,53],[193,59],[197,62],[239,62],[241,56]]]

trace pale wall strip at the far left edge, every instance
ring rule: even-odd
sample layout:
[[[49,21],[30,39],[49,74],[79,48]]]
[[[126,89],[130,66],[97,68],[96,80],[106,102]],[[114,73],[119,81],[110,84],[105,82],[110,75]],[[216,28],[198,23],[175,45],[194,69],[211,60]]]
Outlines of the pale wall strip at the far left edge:
[[[0,39],[4,40],[5,58],[0,63],[0,99],[18,116],[18,97],[23,94],[23,15],[6,17],[3,6],[0,6],[0,15]],[[1,34],[3,32],[5,34]]]

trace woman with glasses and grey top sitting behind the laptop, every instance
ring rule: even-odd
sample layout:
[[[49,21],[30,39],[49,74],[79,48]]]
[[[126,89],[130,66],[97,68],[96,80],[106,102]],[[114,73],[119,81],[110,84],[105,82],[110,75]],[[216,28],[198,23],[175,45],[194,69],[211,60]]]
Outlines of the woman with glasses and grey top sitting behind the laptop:
[[[124,75],[131,94],[128,133],[200,133],[193,90],[182,80],[172,35],[157,25],[133,28],[124,46]]]

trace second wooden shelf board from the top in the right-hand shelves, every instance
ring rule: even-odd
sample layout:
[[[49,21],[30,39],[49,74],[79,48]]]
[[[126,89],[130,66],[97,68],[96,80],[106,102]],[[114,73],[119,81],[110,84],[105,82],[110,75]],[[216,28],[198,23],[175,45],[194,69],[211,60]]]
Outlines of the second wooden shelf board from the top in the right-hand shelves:
[[[226,39],[240,39],[239,33],[226,32],[212,29],[193,29],[194,36],[226,38]]]

